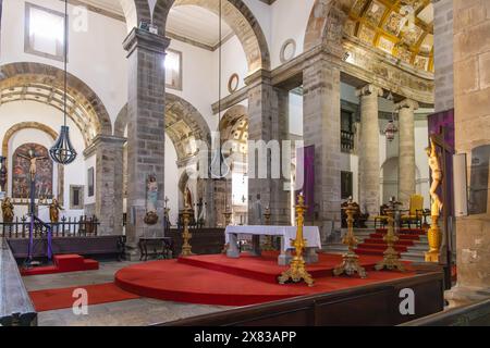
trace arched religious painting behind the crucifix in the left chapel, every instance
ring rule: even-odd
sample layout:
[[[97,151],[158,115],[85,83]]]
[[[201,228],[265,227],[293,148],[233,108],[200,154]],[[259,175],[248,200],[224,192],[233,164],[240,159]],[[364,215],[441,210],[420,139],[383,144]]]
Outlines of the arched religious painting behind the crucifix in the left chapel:
[[[30,197],[30,172],[36,173],[35,198],[52,198],[53,165],[48,149],[39,144],[20,146],[12,158],[12,197]]]

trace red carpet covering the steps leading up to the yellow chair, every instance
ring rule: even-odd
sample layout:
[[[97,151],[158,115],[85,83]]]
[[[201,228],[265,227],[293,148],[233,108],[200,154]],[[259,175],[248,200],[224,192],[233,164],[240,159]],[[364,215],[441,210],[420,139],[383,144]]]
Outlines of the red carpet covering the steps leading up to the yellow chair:
[[[356,249],[357,254],[364,256],[380,256],[382,257],[384,250],[387,249],[387,243],[383,237],[387,229],[378,228],[376,233],[369,235],[364,243],[359,244]],[[424,229],[420,228],[402,228],[399,234],[399,241],[395,243],[394,249],[400,252],[406,252],[408,247],[413,247],[415,241],[420,239],[420,235],[425,234]]]

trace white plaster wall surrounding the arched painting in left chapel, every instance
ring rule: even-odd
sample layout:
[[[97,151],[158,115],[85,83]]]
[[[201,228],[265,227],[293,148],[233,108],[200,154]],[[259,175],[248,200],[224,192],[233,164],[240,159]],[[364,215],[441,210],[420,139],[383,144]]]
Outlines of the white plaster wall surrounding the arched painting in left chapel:
[[[38,122],[45,124],[52,128],[54,132],[60,132],[60,126],[63,122],[62,113],[52,107],[35,102],[35,101],[14,101],[0,105],[0,139],[3,141],[5,132],[13,125],[22,122]],[[70,126],[70,137],[73,146],[78,152],[76,160],[64,167],[64,208],[66,211],[62,212],[61,215],[66,216],[79,216],[81,211],[74,210],[70,211],[70,185],[85,185],[85,164],[83,158],[83,150],[85,149],[85,144],[83,140],[82,133],[78,130],[76,125],[69,119],[68,125]],[[9,158],[9,195],[12,191],[12,154],[15,149],[26,142],[37,142],[46,148],[50,148],[53,140],[46,133],[38,129],[23,129],[17,132],[9,142],[9,153],[3,154]],[[57,186],[57,165],[54,169],[54,179],[53,179],[53,192],[58,192]],[[42,212],[39,211],[40,216],[44,219],[46,216],[41,215]]]

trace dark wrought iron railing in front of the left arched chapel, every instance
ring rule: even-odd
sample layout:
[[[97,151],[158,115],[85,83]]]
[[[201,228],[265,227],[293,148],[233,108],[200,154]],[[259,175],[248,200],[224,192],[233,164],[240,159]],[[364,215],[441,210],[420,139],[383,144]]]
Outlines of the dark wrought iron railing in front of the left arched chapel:
[[[58,223],[44,223],[36,220],[34,238],[46,236],[47,228],[51,228],[53,237],[97,236],[100,225],[96,216],[62,217]],[[14,222],[0,222],[0,237],[28,238],[30,220],[28,216],[15,217]]]

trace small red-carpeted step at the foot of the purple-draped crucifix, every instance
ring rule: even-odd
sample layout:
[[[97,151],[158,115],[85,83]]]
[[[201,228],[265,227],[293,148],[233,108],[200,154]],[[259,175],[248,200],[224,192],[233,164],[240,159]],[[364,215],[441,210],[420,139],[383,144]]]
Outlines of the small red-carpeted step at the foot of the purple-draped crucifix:
[[[91,259],[84,259],[79,254],[56,254],[53,257],[54,264],[48,266],[39,266],[32,269],[21,269],[23,276],[53,274],[77,271],[98,270],[99,263]]]

